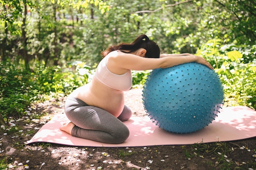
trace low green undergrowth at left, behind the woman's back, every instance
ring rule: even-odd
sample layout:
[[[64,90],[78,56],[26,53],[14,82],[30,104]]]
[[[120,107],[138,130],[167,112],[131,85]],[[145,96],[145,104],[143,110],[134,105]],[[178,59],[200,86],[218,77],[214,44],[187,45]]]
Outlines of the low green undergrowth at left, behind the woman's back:
[[[0,63],[0,114],[21,116],[34,101],[44,101],[47,96],[58,98],[70,94],[75,88],[88,83],[94,69],[83,62],[70,63],[68,67],[44,68],[37,65],[34,72],[23,72],[15,65]]]

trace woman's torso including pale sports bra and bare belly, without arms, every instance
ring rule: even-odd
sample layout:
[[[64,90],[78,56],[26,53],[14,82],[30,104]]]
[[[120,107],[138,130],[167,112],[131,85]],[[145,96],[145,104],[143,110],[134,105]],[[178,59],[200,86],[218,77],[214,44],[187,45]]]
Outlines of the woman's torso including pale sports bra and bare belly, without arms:
[[[74,90],[70,96],[118,117],[124,109],[123,91],[129,90],[132,86],[132,75],[130,70],[126,70],[126,73],[121,75],[110,72],[107,59],[108,56],[101,60],[92,81]]]

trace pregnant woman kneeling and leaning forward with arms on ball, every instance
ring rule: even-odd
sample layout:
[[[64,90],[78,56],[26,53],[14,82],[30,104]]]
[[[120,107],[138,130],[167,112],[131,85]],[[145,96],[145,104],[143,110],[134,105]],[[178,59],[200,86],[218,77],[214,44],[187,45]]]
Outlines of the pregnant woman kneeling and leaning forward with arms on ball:
[[[121,43],[102,51],[92,81],[72,92],[65,102],[69,123],[60,127],[72,136],[101,143],[122,143],[130,132],[123,121],[132,116],[124,105],[124,91],[132,87],[131,70],[173,67],[197,62],[213,67],[191,54],[161,54],[158,45],[146,35],[132,43]]]

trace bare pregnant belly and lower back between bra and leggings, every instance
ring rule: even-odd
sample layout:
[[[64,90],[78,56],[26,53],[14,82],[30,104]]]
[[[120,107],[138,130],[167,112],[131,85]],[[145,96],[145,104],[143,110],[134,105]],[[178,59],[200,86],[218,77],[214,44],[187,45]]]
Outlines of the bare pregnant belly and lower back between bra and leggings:
[[[112,89],[94,78],[70,94],[88,105],[99,107],[118,117],[124,109],[124,92]]]

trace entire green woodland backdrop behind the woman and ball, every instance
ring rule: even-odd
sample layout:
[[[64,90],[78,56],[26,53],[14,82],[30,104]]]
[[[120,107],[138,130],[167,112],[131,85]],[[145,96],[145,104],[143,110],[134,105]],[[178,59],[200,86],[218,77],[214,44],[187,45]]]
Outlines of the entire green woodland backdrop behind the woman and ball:
[[[197,51],[220,75],[227,105],[256,107],[253,0],[0,0],[0,4],[4,116],[22,115],[33,101],[65,96],[88,83],[101,50],[132,42],[139,34],[157,42],[162,53]],[[25,51],[31,72],[22,69]],[[133,87],[144,85],[149,72],[133,71]]]

